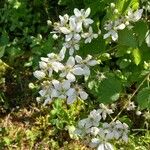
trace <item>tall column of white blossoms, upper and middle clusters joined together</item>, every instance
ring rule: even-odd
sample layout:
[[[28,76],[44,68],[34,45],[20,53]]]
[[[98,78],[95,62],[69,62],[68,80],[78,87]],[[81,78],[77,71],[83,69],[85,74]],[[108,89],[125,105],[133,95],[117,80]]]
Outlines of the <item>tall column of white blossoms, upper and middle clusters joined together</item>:
[[[53,38],[58,34],[63,34],[65,43],[59,54],[50,53],[47,57],[41,57],[39,62],[40,70],[33,74],[41,81],[40,97],[37,101],[44,101],[44,105],[54,99],[66,99],[67,104],[72,104],[77,99],[86,100],[88,94],[77,84],[77,76],[88,77],[90,67],[95,66],[97,61],[87,55],[83,59],[79,55],[73,55],[74,50],[79,49],[79,41],[85,39],[85,43],[90,43],[98,34],[94,34],[92,27],[93,20],[88,18],[90,8],[87,10],[74,9],[74,15],[69,17],[67,14],[59,16],[60,22],[54,23]],[[48,21],[51,25],[51,22]],[[86,32],[84,32],[86,30]],[[69,49],[69,58],[66,60],[66,50]]]

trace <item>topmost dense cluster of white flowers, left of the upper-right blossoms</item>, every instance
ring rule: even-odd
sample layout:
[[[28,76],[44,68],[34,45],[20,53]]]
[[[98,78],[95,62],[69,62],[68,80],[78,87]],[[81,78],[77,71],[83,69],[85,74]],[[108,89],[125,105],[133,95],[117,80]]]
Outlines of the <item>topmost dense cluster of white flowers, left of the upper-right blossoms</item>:
[[[91,24],[94,22],[90,15],[90,8],[87,10],[77,8],[74,9],[74,15],[59,16],[60,21],[54,23],[53,38],[57,39],[59,35],[63,35],[66,49],[69,54],[73,55],[75,50],[79,50],[79,42],[84,39],[85,43],[90,43],[92,39],[97,38],[98,34],[93,33]],[[100,33],[100,32],[99,32]]]

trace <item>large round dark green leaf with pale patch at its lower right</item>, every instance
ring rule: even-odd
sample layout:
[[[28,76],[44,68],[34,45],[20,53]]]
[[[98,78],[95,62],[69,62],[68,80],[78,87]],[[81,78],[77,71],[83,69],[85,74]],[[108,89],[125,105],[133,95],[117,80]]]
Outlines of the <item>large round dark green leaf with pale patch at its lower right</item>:
[[[101,103],[111,103],[118,100],[121,89],[121,83],[115,77],[103,80],[99,86],[98,101]]]

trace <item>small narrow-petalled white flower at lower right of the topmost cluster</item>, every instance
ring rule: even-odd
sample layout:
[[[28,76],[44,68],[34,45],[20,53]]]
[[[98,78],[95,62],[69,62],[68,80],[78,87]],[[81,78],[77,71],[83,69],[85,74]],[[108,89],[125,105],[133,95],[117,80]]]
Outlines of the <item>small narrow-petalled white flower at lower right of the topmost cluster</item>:
[[[82,37],[85,38],[85,44],[86,43],[91,43],[92,39],[96,39],[98,37],[98,34],[93,33],[92,27],[89,27],[89,32],[83,33]]]

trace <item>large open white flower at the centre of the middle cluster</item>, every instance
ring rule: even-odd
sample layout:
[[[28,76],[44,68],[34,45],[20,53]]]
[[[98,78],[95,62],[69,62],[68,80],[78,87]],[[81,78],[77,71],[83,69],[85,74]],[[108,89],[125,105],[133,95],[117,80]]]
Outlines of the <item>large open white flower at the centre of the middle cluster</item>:
[[[75,59],[73,56],[70,56],[60,77],[66,77],[69,81],[74,82],[76,80],[75,75],[83,75],[83,69],[75,66]]]

